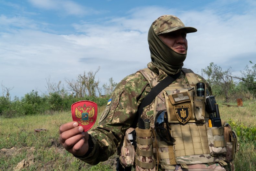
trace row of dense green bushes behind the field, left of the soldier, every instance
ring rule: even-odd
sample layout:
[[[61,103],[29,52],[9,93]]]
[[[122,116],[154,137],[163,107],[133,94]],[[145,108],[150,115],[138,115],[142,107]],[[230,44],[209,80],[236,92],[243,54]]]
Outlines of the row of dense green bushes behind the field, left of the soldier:
[[[70,110],[71,105],[77,101],[89,100],[103,106],[107,104],[109,97],[84,97],[77,98],[72,95],[64,95],[59,93],[50,93],[49,95],[38,95],[37,91],[32,90],[25,94],[21,99],[15,97],[11,101],[8,97],[0,97],[0,116],[4,118],[13,118],[25,115],[48,114],[52,111]]]

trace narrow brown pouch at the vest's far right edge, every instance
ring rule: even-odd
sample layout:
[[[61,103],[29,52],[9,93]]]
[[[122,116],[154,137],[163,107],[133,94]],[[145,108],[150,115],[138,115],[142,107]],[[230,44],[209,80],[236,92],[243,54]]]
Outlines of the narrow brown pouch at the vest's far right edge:
[[[224,139],[227,144],[226,161],[231,162],[234,160],[235,154],[239,150],[239,138],[236,131],[233,131],[230,125],[224,127]]]

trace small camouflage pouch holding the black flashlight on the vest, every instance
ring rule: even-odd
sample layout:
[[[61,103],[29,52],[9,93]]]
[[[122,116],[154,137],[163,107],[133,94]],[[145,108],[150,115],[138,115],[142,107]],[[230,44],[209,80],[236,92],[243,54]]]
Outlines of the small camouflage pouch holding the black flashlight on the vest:
[[[204,122],[205,117],[205,103],[204,103],[204,97],[194,97],[194,112],[195,112],[195,118],[199,122]]]

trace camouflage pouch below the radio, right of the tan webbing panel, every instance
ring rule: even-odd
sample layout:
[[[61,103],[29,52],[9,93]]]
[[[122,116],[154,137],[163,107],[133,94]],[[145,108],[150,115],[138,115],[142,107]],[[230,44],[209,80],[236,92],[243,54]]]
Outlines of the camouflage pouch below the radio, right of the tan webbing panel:
[[[207,127],[207,139],[211,155],[226,154],[226,141],[223,127]]]

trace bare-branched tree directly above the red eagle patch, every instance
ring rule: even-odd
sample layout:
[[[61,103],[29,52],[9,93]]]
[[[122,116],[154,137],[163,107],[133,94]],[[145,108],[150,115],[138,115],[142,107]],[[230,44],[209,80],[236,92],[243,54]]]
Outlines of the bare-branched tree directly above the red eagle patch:
[[[76,97],[96,96],[96,90],[99,95],[101,94],[99,80],[95,81],[95,75],[99,72],[99,69],[100,67],[95,72],[89,71],[88,73],[79,74],[76,81],[66,79],[68,87]]]

